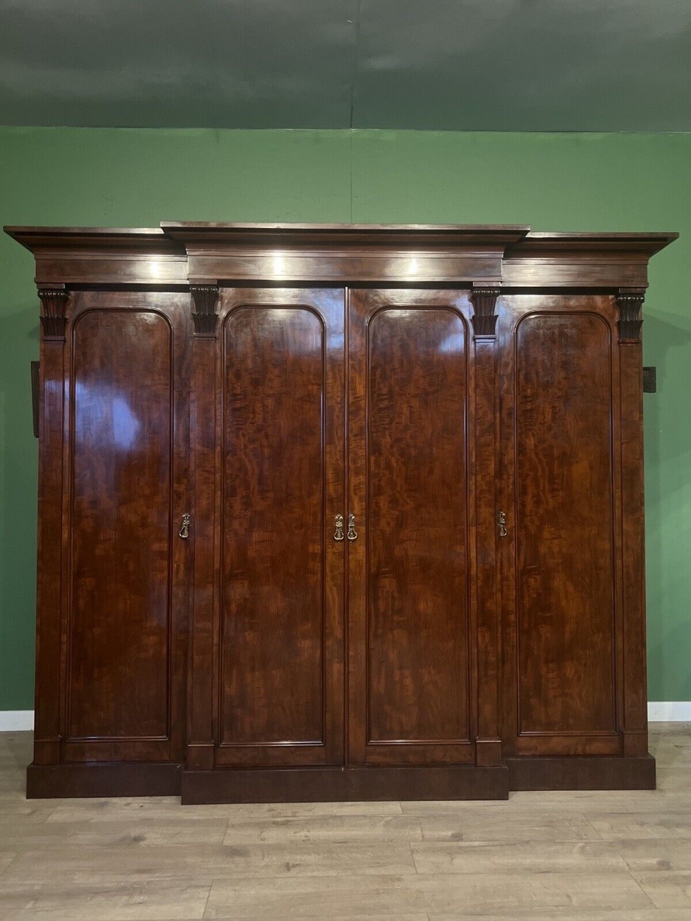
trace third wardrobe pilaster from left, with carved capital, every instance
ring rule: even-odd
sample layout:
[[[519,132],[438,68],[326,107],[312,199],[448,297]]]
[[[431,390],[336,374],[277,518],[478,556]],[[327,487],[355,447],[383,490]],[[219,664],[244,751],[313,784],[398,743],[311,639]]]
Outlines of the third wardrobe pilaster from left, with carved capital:
[[[498,287],[474,287],[474,560],[477,764],[501,764],[497,579]],[[473,495],[473,493],[471,495]]]

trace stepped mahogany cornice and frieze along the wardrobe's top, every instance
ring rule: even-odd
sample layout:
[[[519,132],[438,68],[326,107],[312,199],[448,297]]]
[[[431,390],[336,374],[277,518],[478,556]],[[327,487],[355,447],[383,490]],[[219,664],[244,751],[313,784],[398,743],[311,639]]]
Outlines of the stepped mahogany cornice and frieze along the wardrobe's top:
[[[676,233],[543,233],[525,225],[220,224],[5,227],[36,281],[170,286],[220,280],[502,282],[521,288],[648,284]],[[278,261],[276,261],[278,257]]]

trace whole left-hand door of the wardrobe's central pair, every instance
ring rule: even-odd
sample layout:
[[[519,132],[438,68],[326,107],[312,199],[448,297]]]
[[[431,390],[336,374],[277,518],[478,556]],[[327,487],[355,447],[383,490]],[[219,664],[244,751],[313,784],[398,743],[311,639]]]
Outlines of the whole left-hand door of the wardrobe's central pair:
[[[215,765],[341,764],[345,291],[219,312]]]

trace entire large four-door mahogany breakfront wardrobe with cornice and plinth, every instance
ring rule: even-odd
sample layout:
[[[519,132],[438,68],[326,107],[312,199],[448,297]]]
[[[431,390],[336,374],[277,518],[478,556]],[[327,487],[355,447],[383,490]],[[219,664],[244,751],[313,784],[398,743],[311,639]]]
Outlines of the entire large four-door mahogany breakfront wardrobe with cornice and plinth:
[[[641,306],[675,234],[8,227],[31,797],[654,787]]]

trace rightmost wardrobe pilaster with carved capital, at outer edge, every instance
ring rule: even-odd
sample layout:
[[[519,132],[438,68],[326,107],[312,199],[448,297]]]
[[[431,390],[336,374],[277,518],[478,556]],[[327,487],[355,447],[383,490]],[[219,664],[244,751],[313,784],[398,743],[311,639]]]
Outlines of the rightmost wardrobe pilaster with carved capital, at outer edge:
[[[624,754],[648,752],[646,680],[645,522],[643,508],[643,354],[641,308],[644,291],[621,288],[619,376],[621,393],[622,607],[624,647]]]

